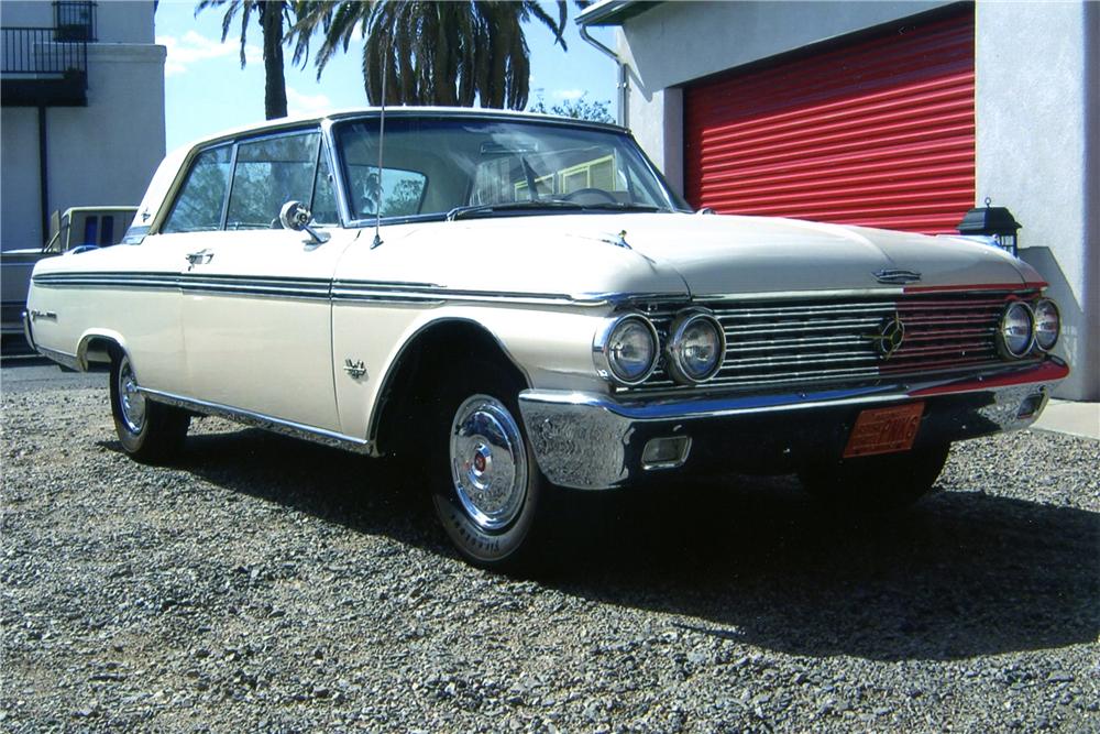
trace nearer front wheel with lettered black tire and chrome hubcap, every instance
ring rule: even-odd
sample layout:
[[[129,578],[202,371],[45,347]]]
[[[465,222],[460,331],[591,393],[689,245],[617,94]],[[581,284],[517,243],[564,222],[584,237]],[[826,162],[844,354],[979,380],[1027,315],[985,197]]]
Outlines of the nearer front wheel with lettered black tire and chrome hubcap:
[[[501,571],[535,562],[552,491],[517,419],[517,393],[495,372],[462,380],[432,431],[436,514],[468,560]]]

